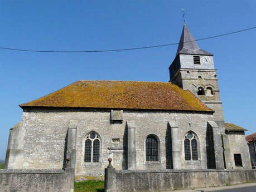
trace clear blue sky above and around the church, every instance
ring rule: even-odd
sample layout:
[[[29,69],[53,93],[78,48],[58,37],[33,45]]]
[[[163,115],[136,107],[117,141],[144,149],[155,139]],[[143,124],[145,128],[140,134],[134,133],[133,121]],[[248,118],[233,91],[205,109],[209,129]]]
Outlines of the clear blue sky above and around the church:
[[[256,26],[256,1],[0,1],[0,47],[104,50],[175,43]],[[214,53],[226,122],[256,132],[256,29],[199,41]],[[18,106],[77,80],[169,80],[177,46],[104,53],[0,50],[0,159]]]

